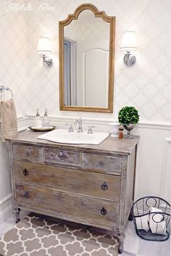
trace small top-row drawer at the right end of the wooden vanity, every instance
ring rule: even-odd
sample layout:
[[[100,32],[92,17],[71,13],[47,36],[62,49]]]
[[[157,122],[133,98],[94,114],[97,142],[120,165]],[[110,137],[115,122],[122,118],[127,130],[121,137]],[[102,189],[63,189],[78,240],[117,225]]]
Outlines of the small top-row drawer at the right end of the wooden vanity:
[[[103,154],[82,154],[82,167],[90,170],[106,170],[121,173],[122,157],[108,156]]]

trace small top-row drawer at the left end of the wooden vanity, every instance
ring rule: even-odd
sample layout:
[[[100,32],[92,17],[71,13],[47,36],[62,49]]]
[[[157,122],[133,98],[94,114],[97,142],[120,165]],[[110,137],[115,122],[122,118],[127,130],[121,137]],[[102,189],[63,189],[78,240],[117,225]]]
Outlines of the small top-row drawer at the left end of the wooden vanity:
[[[13,151],[16,160],[43,162],[43,149],[41,147],[14,144]]]

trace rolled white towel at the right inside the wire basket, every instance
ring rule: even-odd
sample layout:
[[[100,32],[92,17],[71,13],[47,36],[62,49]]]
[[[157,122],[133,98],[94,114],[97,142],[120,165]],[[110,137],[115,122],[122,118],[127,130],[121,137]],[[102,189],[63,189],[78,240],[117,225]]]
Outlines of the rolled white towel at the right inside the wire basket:
[[[151,232],[154,234],[166,234],[166,222],[163,220],[162,210],[150,207],[150,218],[149,218],[149,226],[151,228]],[[152,212],[161,212],[161,213],[154,213]]]

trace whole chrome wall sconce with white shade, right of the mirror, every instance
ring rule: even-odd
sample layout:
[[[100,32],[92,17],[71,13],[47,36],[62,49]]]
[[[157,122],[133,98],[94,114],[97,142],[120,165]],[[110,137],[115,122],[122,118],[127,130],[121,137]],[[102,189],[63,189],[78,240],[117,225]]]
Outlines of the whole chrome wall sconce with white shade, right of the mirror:
[[[127,31],[122,35],[121,47],[123,51],[126,51],[123,61],[125,65],[132,66],[135,63],[135,55],[131,54],[130,51],[137,49],[135,32]]]

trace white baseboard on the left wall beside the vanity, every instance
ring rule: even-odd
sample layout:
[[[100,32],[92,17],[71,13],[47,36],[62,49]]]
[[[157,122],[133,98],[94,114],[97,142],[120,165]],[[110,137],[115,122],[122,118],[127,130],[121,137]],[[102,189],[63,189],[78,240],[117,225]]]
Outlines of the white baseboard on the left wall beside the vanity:
[[[0,224],[12,215],[12,194],[9,194],[0,201]]]

